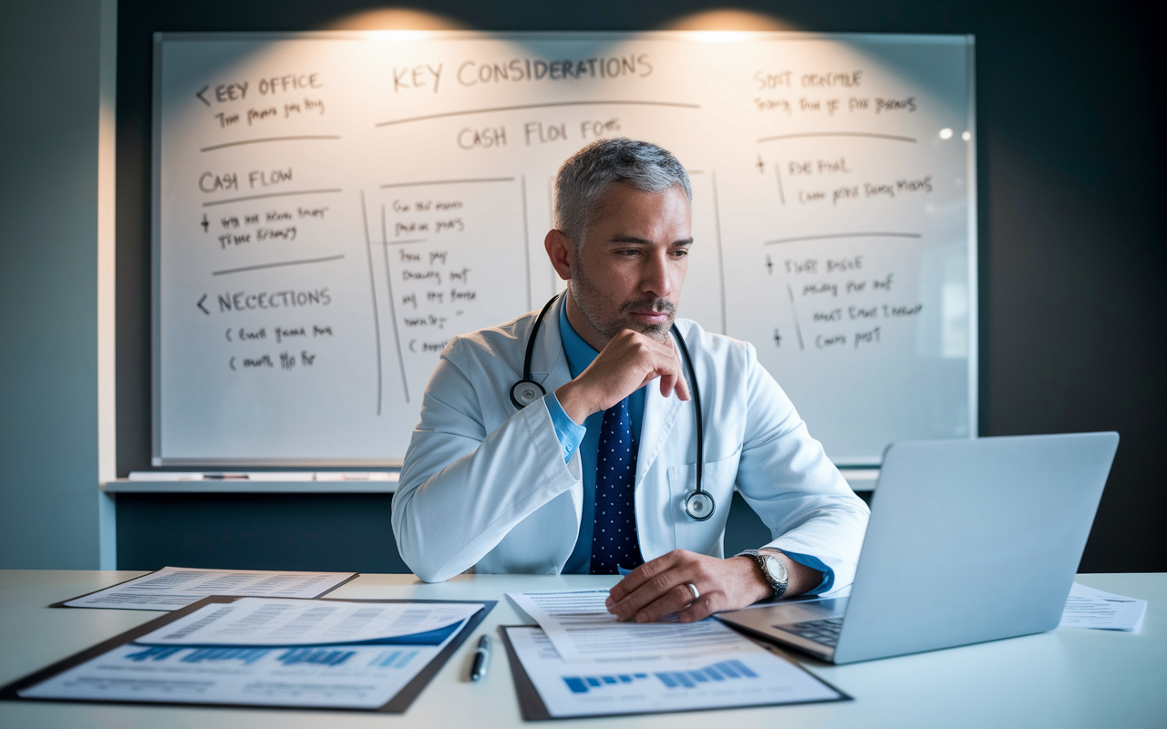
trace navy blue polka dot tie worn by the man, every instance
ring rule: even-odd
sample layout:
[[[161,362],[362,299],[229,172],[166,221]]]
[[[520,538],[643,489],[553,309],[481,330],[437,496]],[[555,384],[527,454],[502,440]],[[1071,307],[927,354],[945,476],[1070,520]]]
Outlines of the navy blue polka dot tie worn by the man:
[[[619,574],[644,563],[636,537],[636,441],[628,398],[603,412],[595,458],[595,528],[592,532],[592,574]]]

